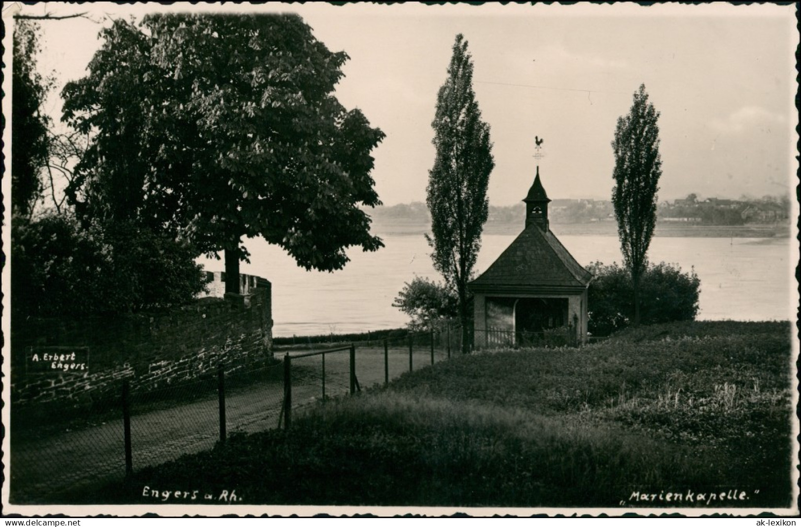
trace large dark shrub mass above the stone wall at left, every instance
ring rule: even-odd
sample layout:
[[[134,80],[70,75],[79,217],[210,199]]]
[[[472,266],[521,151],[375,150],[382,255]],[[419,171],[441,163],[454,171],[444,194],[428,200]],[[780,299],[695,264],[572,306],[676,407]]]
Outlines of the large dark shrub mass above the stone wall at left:
[[[119,224],[81,229],[51,214],[13,225],[14,311],[32,316],[121,313],[186,302],[205,287],[191,247]]]

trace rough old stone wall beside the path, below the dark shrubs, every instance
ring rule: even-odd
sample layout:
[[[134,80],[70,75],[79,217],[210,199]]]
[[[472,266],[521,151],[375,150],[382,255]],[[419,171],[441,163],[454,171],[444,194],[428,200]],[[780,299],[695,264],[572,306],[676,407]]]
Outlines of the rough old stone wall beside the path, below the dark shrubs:
[[[272,358],[272,291],[264,279],[253,283],[248,294],[147,314],[12,319],[11,401],[92,403],[119,394],[123,379],[131,391],[148,391],[213,375],[219,363],[227,372],[264,363]],[[85,371],[31,367],[34,354],[70,347],[88,348]]]

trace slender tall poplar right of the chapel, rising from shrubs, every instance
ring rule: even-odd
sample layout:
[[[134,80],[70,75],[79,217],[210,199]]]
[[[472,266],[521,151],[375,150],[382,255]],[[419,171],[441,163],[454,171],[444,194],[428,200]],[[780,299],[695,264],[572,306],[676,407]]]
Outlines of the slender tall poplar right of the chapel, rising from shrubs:
[[[634,92],[626,116],[614,132],[612,205],[618,220],[623,263],[634,286],[634,324],[640,323],[640,282],[648,266],[648,247],[656,225],[657,191],[662,176],[659,155],[659,112],[648,102],[646,87]]]

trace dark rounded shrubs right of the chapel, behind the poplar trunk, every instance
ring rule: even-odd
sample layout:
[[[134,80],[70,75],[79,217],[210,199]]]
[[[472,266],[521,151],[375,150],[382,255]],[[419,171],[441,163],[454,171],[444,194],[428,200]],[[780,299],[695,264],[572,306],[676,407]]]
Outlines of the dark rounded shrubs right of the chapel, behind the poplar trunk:
[[[629,272],[613,263],[594,262],[588,311],[590,333],[608,335],[634,320],[634,285]],[[644,325],[694,320],[698,314],[701,281],[694,270],[682,273],[678,265],[648,266],[640,283],[640,317]]]

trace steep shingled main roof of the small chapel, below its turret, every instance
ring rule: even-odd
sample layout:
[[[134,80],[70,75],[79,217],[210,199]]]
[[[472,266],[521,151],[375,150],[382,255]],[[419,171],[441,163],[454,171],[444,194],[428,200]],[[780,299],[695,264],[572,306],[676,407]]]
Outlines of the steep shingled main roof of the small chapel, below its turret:
[[[550,230],[530,225],[470,286],[586,287],[591,279]]]

